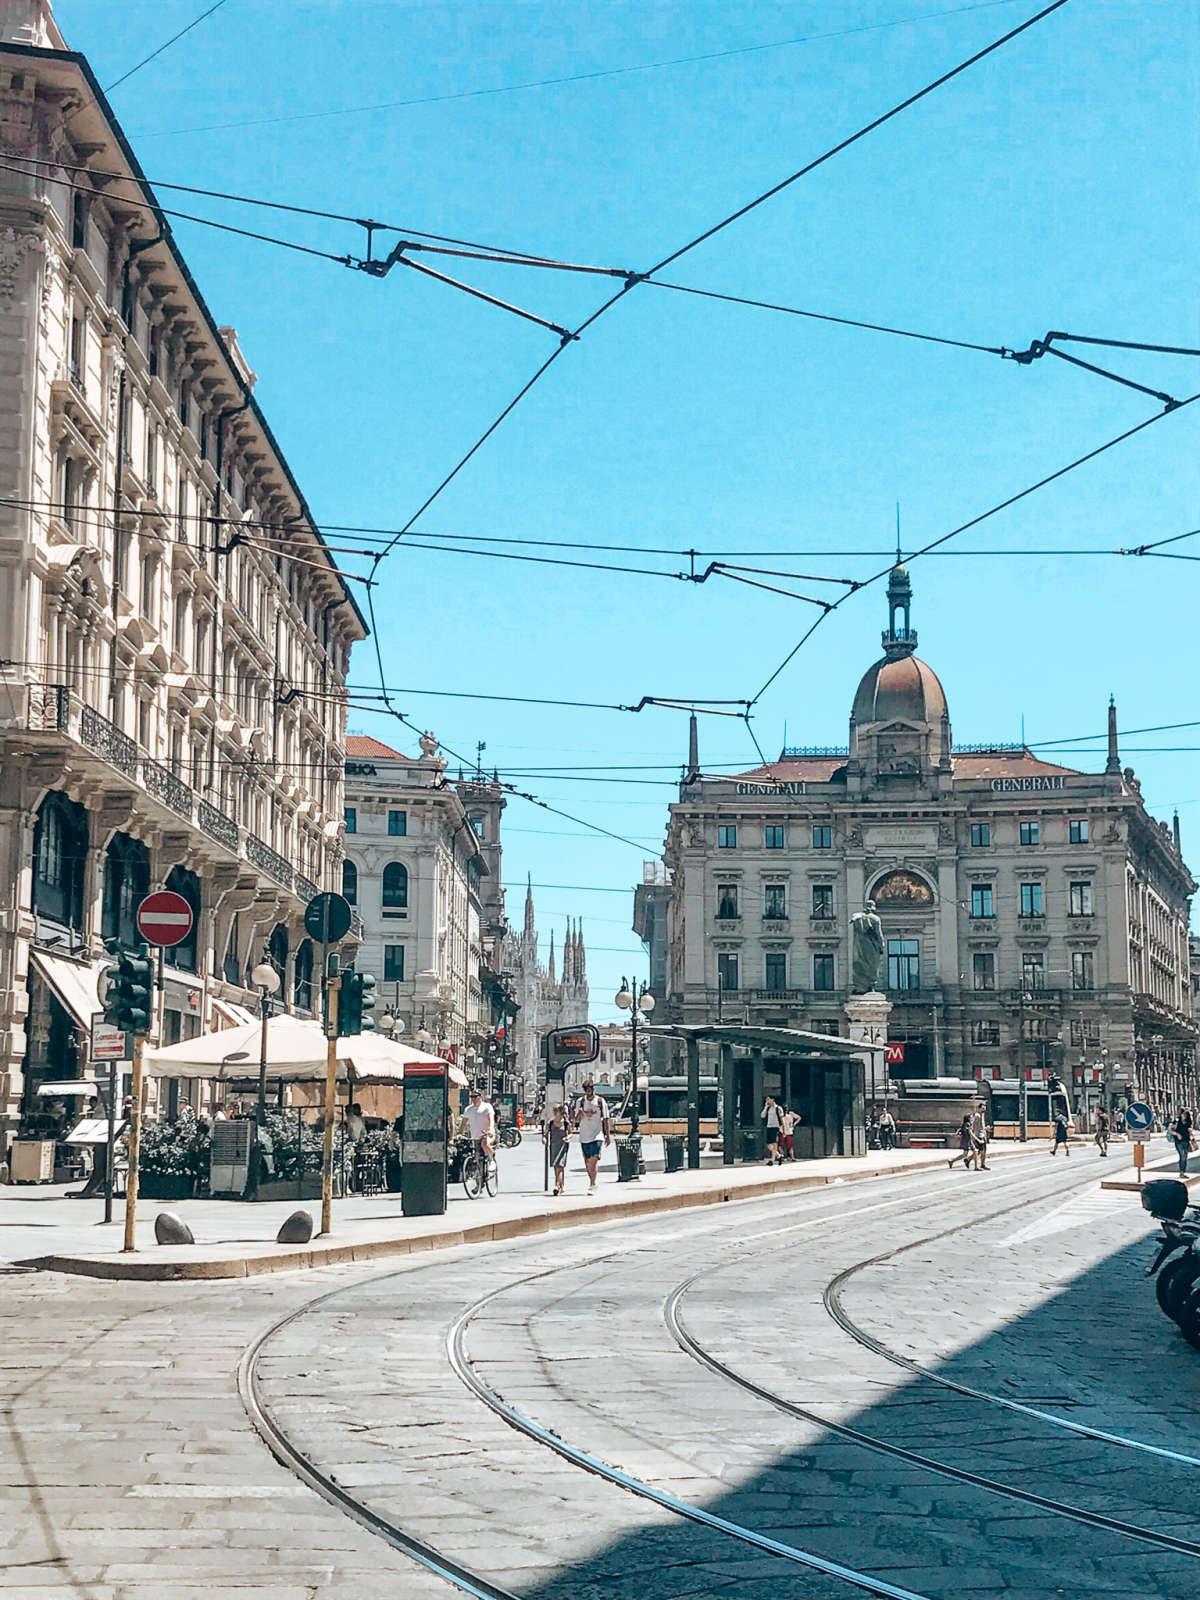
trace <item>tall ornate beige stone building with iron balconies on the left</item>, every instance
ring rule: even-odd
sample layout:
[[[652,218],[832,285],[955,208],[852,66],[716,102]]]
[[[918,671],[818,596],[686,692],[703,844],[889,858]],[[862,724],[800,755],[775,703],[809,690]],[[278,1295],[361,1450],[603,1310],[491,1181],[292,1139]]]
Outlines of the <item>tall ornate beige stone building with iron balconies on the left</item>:
[[[102,941],[192,906],[154,1037],[312,1000],[365,626],[82,56],[0,22],[0,1136],[74,1078]],[[0,1138],[0,1142],[3,1139]]]

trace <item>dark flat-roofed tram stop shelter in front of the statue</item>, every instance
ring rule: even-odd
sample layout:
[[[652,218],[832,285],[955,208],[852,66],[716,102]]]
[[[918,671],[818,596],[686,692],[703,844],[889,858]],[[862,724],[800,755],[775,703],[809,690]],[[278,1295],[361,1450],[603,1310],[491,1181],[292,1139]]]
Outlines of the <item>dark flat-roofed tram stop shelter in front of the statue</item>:
[[[701,1045],[718,1056],[725,1165],[766,1154],[766,1096],[798,1112],[795,1155],[866,1155],[866,1069],[861,1040],[750,1022],[667,1022],[638,1029],[682,1038],[688,1062],[688,1166],[699,1166]],[[869,1048],[869,1046],[866,1046]]]

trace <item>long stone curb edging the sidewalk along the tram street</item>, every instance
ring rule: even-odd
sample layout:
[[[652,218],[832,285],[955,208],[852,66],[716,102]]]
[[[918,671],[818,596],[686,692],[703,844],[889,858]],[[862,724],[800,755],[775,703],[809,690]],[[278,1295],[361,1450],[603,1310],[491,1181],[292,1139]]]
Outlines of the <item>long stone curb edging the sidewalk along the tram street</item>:
[[[1019,1155],[1019,1150],[992,1150],[995,1155]],[[646,1195],[624,1200],[619,1205],[589,1205],[573,1211],[538,1211],[531,1216],[507,1218],[502,1222],[483,1222],[478,1227],[445,1229],[440,1234],[416,1237],[368,1238],[342,1245],[293,1245],[280,1246],[262,1256],[219,1256],[200,1261],[162,1261],[152,1256],[134,1256],[130,1261],[96,1256],[35,1256],[16,1262],[37,1267],[42,1272],[67,1272],[75,1277],[133,1280],[141,1283],[202,1282],[219,1278],[253,1278],[270,1272],[307,1272],[314,1267],[344,1266],[358,1261],[379,1261],[386,1256],[413,1256],[430,1250],[453,1250],[459,1245],[488,1245],[506,1238],[530,1238],[539,1234],[555,1234],[568,1227],[587,1227],[595,1222],[618,1222],[622,1218],[654,1216],[664,1211],[690,1211],[698,1206],[723,1205],[736,1200],[762,1200],[778,1194],[802,1189],[826,1189],[832,1184],[870,1182],[878,1178],[904,1178],[909,1173],[936,1171],[946,1162],[938,1155],[928,1162],[875,1171],[846,1173],[845,1176],[803,1173],[763,1178],[758,1182],[725,1187],[712,1184],[704,1189],[683,1189],[675,1194]]]

